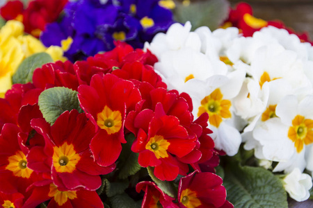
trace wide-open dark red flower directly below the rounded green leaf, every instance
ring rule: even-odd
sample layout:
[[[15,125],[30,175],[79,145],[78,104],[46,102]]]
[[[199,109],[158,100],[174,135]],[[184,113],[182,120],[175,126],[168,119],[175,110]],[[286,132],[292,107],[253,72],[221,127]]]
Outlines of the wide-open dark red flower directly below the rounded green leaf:
[[[83,187],[93,191],[102,183],[99,175],[111,173],[115,168],[115,164],[102,167],[94,162],[89,144],[95,135],[95,126],[85,114],[66,111],[52,126],[44,119],[33,119],[31,125],[45,138],[45,147],[31,149],[27,156],[29,166],[38,172],[51,170],[58,188]]]

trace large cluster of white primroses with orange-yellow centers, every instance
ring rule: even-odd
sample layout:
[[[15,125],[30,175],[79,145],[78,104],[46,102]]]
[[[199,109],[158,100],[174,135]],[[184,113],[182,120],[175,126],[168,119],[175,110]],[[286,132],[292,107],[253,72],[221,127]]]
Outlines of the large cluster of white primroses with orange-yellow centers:
[[[310,43],[271,26],[242,37],[238,28],[191,32],[186,22],[157,34],[145,49],[157,55],[154,69],[168,89],[191,96],[195,118],[209,114],[218,150],[232,156],[245,142],[261,161],[278,162],[273,172],[313,171]]]

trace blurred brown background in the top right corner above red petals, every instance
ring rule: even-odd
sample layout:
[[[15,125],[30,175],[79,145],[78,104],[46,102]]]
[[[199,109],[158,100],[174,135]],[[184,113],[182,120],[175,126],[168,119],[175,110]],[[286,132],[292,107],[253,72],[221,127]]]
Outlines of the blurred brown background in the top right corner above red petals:
[[[228,0],[231,6],[242,2]],[[265,20],[280,19],[297,32],[307,31],[313,39],[313,0],[245,0],[253,8],[253,16]]]

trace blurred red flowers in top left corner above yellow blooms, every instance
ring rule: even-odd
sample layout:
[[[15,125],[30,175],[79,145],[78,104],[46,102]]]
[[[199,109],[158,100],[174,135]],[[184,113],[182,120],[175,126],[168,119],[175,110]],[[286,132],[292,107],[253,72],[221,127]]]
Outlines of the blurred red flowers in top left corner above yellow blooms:
[[[67,0],[34,0],[24,8],[22,1],[14,0],[1,7],[0,14],[6,21],[11,19],[22,21],[26,33],[39,37],[46,24],[58,19],[66,3]]]

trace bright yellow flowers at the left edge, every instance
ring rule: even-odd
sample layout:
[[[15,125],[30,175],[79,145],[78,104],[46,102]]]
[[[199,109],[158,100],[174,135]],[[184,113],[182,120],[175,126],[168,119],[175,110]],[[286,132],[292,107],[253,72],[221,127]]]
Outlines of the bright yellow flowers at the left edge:
[[[21,62],[34,53],[46,52],[54,61],[65,61],[63,50],[58,46],[47,49],[40,40],[24,35],[20,21],[10,20],[0,30],[0,98],[12,87],[12,76]]]

